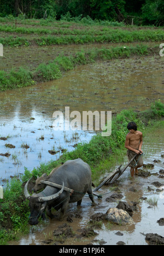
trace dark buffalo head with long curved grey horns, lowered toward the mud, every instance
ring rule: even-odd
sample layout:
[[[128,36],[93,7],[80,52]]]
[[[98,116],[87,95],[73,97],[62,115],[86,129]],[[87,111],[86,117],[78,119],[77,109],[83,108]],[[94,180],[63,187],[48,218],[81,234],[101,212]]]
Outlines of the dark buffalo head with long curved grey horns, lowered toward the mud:
[[[42,216],[46,208],[47,202],[50,200],[55,200],[58,196],[60,196],[64,190],[65,185],[63,183],[62,189],[54,195],[45,196],[44,191],[39,194],[30,195],[27,189],[30,180],[31,179],[29,179],[25,185],[24,194],[25,197],[29,200],[29,207],[31,211],[29,224],[36,225],[38,224],[38,218]],[[40,194],[43,194],[43,196],[40,196]]]

